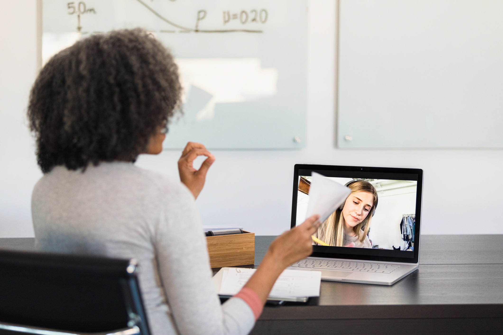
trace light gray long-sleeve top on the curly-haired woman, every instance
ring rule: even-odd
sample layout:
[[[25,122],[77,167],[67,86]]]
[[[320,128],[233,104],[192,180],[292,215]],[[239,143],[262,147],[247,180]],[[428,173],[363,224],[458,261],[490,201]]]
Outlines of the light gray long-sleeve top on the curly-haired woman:
[[[132,163],[57,166],[32,195],[36,245],[48,252],[136,258],[153,335],[247,334],[253,311],[220,305],[190,191]]]

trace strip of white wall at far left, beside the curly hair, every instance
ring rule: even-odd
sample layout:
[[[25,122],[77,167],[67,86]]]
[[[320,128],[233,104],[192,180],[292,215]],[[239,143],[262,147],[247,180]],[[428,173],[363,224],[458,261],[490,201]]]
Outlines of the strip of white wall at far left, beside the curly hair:
[[[0,237],[32,237],[30,198],[42,173],[26,126],[37,72],[36,1],[3,1],[0,11]]]

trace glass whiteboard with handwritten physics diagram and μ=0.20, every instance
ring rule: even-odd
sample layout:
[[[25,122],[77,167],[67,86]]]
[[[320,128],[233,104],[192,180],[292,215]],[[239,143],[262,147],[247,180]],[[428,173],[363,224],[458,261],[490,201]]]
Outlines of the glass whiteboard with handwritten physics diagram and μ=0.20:
[[[43,0],[43,62],[79,38],[134,27],[179,65],[184,116],[165,149],[305,146],[307,0]]]

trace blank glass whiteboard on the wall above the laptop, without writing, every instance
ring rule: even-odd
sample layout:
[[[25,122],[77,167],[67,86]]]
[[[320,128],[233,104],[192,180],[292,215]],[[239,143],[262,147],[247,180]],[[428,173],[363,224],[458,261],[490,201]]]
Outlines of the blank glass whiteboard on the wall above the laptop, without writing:
[[[338,146],[503,147],[503,2],[341,0]]]

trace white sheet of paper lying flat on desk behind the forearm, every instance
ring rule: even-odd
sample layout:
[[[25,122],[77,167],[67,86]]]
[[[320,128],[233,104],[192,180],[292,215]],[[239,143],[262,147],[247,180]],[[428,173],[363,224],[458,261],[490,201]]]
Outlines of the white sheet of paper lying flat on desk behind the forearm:
[[[229,268],[228,270],[224,270],[218,294],[236,294],[254,273],[255,269],[248,268]],[[269,296],[318,297],[320,282],[320,271],[285,270],[274,283]]]

